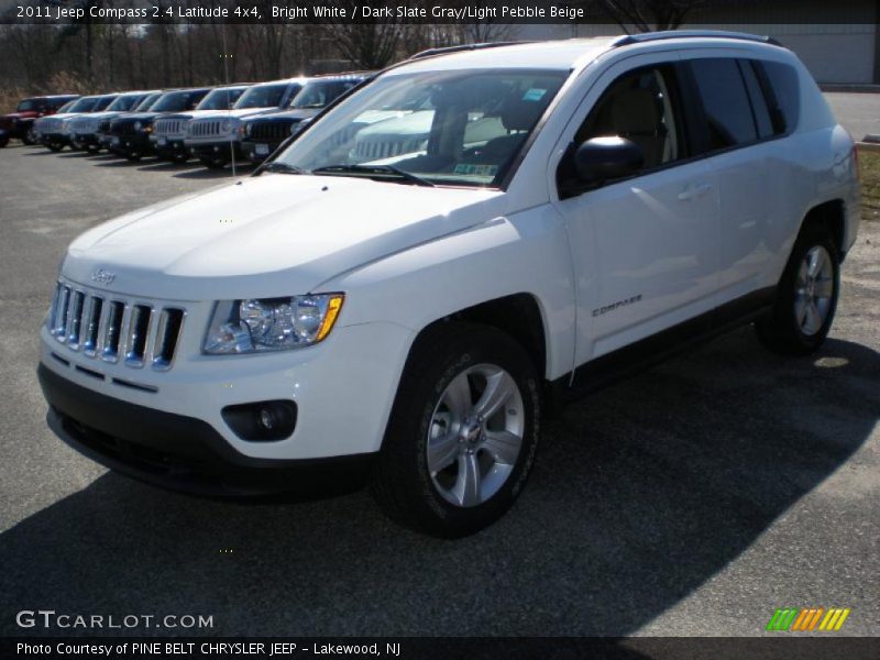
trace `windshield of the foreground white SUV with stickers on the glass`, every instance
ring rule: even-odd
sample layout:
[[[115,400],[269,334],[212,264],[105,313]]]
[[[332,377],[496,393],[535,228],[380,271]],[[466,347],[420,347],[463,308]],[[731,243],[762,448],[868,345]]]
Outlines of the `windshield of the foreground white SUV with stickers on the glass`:
[[[310,127],[276,162],[334,176],[373,178],[378,169],[396,169],[400,182],[497,186],[566,76],[483,69],[384,76]]]

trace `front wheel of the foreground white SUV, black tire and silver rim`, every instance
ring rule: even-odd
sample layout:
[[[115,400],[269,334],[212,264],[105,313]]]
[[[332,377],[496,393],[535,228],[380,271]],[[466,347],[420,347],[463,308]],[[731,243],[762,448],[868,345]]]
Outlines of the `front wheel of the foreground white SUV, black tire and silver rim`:
[[[371,491],[406,527],[468,536],[513,506],[539,437],[539,378],[526,351],[487,326],[442,323],[407,361]]]

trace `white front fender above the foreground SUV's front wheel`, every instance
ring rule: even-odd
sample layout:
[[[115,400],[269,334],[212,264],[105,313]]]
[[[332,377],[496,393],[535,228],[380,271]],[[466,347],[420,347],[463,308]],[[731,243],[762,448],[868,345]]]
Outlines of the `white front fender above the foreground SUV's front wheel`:
[[[415,333],[481,302],[529,294],[544,324],[546,376],[573,367],[571,258],[562,220],[550,205],[415,245],[331,278],[320,289],[346,293],[341,326],[391,322]]]

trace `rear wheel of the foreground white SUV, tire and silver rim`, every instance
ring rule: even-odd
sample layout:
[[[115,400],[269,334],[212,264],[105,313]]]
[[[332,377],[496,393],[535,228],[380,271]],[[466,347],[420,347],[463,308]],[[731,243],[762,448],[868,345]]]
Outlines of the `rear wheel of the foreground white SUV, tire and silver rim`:
[[[755,324],[774,353],[809,355],[825,342],[840,293],[840,257],[828,232],[807,227],[782,273],[772,314]]]

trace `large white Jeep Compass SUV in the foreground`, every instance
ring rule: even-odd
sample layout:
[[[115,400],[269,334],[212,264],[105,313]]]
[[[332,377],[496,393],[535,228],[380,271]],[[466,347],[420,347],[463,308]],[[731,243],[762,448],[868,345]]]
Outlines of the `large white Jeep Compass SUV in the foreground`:
[[[255,176],[78,238],[48,422],[155,484],[369,479],[462,536],[522,490],[550,402],[737,323],[815,351],[858,223],[854,143],[771,40],[430,52]]]

